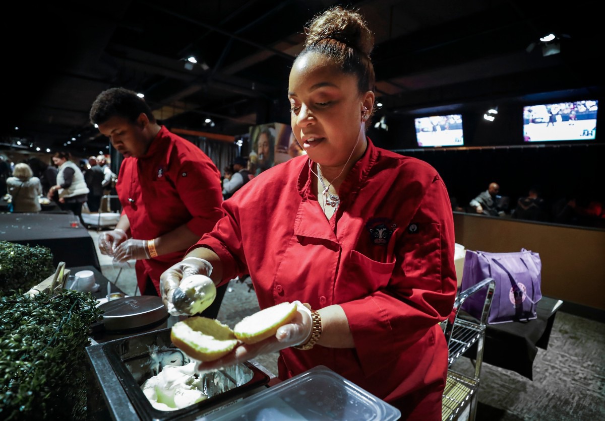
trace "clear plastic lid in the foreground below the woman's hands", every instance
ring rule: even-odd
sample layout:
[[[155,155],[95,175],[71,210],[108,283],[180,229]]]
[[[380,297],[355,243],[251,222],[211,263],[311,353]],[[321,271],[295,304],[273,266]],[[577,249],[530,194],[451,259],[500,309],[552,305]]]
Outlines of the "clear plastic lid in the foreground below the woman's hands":
[[[397,420],[401,411],[323,365],[198,420]]]

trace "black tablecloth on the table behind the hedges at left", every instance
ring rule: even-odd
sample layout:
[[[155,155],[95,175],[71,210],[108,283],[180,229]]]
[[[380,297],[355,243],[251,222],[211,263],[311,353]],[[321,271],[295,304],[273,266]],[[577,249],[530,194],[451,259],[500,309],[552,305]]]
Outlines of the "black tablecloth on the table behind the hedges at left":
[[[94,266],[100,270],[93,238],[79,223],[71,227],[72,220],[73,214],[64,213],[3,213],[0,240],[46,246],[53,253],[54,266],[65,262],[67,268]]]

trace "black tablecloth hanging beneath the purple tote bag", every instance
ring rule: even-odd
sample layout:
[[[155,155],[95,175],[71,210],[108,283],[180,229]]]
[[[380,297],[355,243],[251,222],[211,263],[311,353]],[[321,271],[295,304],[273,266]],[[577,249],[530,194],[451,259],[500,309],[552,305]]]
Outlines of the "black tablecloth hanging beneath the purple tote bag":
[[[483,362],[496,367],[512,370],[533,380],[534,359],[538,347],[548,348],[552,324],[557,310],[563,301],[542,297],[538,301],[537,316],[526,322],[490,324],[485,330],[485,347]],[[472,318],[460,310],[460,317]],[[465,356],[475,358],[476,345],[471,347]]]

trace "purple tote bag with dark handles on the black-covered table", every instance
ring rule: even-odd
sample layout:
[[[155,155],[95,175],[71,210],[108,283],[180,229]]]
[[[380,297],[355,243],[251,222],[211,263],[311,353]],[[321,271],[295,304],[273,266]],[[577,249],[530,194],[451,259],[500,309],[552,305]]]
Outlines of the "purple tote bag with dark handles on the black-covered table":
[[[488,324],[527,321],[537,318],[542,263],[540,255],[522,248],[519,252],[490,253],[466,250],[462,291],[485,278],[495,280],[494,298]],[[471,295],[462,309],[481,318],[486,291]]]

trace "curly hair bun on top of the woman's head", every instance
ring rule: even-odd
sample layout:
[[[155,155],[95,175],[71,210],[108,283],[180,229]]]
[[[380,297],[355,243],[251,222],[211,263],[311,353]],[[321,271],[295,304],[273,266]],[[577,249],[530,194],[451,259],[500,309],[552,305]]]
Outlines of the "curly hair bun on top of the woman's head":
[[[374,48],[374,35],[363,16],[356,10],[336,6],[319,14],[305,28],[305,48],[325,39],[334,39],[369,56]]]

